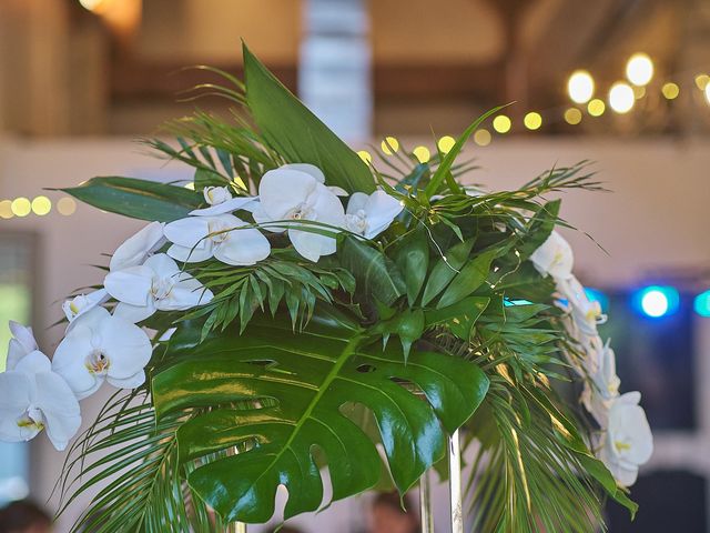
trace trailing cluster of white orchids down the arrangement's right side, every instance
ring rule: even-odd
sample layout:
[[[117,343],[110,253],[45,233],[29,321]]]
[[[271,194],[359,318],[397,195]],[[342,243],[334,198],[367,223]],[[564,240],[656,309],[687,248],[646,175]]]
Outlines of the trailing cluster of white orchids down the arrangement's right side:
[[[597,325],[606,320],[599,302],[591,301],[572,274],[574,257],[569,243],[557,232],[540,245],[530,261],[542,275],[550,275],[559,294],[558,305],[567,313],[566,325],[577,341],[581,358],[570,355],[570,363],[585,380],[581,402],[599,424],[594,443],[597,455],[617,482],[629,486],[636,482],[639,466],[653,452],[653,438],[641,394],[619,394],[613,350],[601,340]]]

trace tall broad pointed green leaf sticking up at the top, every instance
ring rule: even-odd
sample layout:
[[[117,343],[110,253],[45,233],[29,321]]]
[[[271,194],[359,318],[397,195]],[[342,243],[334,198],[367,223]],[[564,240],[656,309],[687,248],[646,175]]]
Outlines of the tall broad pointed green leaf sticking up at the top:
[[[311,163],[328,185],[371,193],[375,180],[367,165],[286,89],[258,59],[244,50],[246,102],[268,143],[290,163]]]

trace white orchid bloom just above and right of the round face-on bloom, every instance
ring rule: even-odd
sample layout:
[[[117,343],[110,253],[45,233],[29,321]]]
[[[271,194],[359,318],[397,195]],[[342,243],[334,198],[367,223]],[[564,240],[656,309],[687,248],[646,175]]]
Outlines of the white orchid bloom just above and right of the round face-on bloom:
[[[164,253],[151,255],[141,265],[109,272],[103,284],[119,301],[113,314],[133,323],[155,311],[184,311],[213,298],[212,291]]]

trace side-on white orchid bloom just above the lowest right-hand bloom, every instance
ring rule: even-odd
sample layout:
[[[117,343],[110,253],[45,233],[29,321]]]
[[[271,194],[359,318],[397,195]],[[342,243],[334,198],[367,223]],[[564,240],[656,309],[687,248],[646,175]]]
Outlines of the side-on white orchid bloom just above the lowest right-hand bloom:
[[[609,409],[619,395],[621,381],[617,375],[617,363],[613,350],[601,342],[598,336],[590,342],[587,350],[585,365],[588,369],[588,380],[581,394],[581,401],[587,411],[606,428],[609,421]]]

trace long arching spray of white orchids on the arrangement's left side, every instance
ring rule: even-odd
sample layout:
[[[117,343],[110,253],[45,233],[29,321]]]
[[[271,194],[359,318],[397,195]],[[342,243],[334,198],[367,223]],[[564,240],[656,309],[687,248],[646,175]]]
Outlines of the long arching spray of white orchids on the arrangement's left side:
[[[338,229],[373,239],[403,209],[395,198],[375,191],[354,193],[345,210],[338,197],[347,193],[326,187],[323,172],[311,164],[266,172],[258,197],[233,198],[225,187],[203,192],[210,207],[168,224],[151,222],[113,253],[102,289],[64,302],[69,325],[51,362],[39,351],[30,328],[10,323],[13,339],[6,372],[0,374],[0,441],[28,441],[47,429],[52,444],[63,450],[81,425],[79,400],[104,381],[120,389],[142,385],[152,344],[136,324],[156,311],[184,311],[213,299],[175,261],[214,258],[230,265],[251,265],[270,255],[266,237],[234,211],[251,212],[266,231],[286,231],[302,257],[317,261],[335,253],[333,235]],[[103,306],[111,299],[113,312]]]

